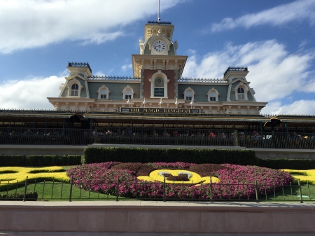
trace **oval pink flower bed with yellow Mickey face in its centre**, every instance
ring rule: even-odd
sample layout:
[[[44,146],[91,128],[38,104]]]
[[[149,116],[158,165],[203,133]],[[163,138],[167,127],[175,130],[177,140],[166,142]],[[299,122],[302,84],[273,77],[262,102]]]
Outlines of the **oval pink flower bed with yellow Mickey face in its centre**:
[[[142,175],[144,173],[146,176]],[[181,181],[175,180],[179,177],[173,180],[166,178],[165,197],[198,200],[209,199],[211,193],[214,199],[253,199],[255,179],[259,195],[273,193],[274,189],[277,190],[281,185],[292,181],[290,174],[276,169],[229,164],[196,165],[184,162],[104,162],[80,165],[67,170],[67,174],[76,186],[85,190],[116,195],[118,183],[120,196],[140,198],[163,197],[164,176],[184,174],[188,181],[185,181],[185,178]]]

